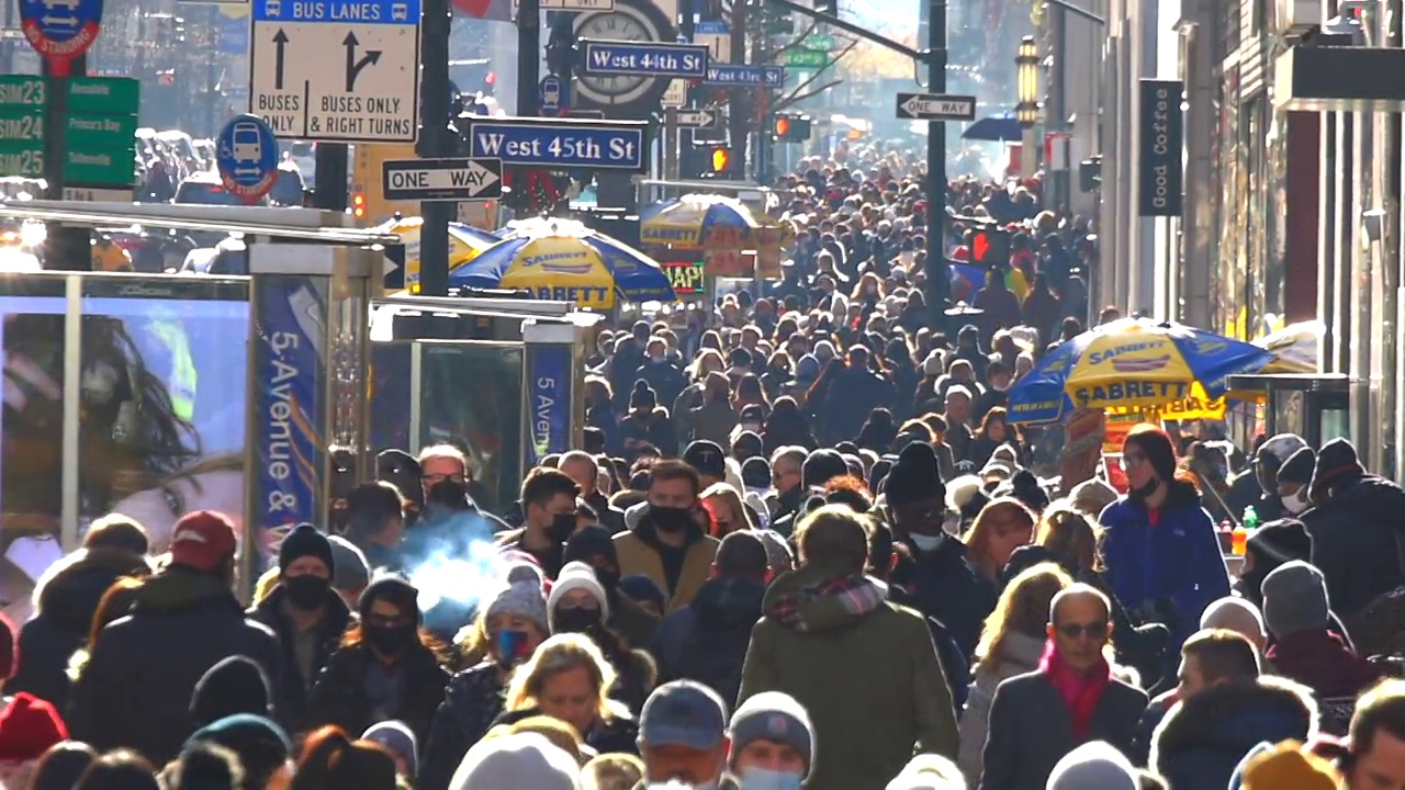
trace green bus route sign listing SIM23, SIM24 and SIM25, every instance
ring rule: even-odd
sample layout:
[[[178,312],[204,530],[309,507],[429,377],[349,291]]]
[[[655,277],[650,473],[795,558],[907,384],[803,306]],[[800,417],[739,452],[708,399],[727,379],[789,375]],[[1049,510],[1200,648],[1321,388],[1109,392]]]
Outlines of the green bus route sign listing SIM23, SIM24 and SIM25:
[[[131,77],[73,77],[66,86],[65,186],[132,188],[140,83]],[[44,77],[0,75],[0,176],[44,177],[48,98]]]

